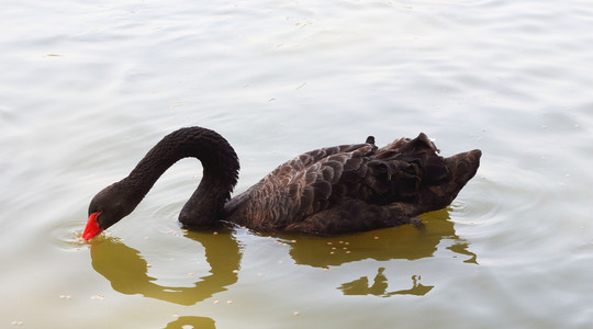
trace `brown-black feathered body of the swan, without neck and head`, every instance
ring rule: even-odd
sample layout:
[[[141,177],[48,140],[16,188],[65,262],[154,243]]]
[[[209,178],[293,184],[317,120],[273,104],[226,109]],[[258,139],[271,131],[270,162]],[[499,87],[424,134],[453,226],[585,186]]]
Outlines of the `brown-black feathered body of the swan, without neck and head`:
[[[378,148],[367,143],[305,152],[225,206],[224,218],[257,230],[342,234],[410,224],[447,206],[471,179],[480,151],[447,162],[421,134]]]

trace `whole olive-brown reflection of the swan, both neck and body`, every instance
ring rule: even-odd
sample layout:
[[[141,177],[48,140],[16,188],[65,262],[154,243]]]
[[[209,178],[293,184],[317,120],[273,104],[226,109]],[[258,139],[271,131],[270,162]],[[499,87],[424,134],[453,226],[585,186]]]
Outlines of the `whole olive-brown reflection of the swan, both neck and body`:
[[[477,256],[468,250],[468,243],[456,235],[454,223],[448,219],[449,214],[445,209],[425,215],[423,220],[426,226],[421,228],[410,225],[338,237],[276,235],[272,238],[289,246],[289,254],[295,264],[320,269],[339,268],[347,262],[367,259],[389,261],[429,258],[435,254],[443,240],[448,240],[449,246],[441,249],[452,251],[454,258],[462,256],[466,258],[463,262],[477,264]],[[204,247],[205,259],[211,266],[210,274],[198,279],[190,287],[155,283],[156,279],[148,275],[147,262],[141,252],[115,239],[91,246],[92,266],[111,282],[113,290],[122,294],[142,294],[179,305],[194,305],[228,290],[238,281],[243,247],[236,237],[242,234],[237,234],[235,229],[224,229],[217,235],[188,232],[184,236]],[[250,234],[247,236],[254,238]],[[412,275],[411,282],[401,282],[401,279],[398,282],[400,286],[404,284],[410,288],[390,290],[388,272],[380,266],[374,276],[353,277],[351,281],[338,284],[337,290],[344,295],[390,297],[422,296],[434,287],[429,283],[421,283],[421,274],[416,273]]]

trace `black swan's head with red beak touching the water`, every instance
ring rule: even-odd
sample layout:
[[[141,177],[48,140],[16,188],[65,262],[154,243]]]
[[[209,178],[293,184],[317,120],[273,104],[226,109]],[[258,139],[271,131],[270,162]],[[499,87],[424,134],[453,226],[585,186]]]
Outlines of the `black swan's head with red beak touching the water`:
[[[107,186],[97,193],[89,205],[89,219],[82,239],[90,240],[104,229],[130,215],[142,201],[133,197],[121,186],[121,182]]]

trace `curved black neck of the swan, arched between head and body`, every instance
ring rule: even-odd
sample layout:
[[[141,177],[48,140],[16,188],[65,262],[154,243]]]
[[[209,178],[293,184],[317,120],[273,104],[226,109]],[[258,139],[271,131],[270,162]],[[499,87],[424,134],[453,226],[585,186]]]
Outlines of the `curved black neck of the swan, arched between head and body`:
[[[186,226],[208,226],[215,222],[237,183],[239,162],[235,150],[217,133],[189,127],[165,136],[136,164],[125,184],[139,203],[160,175],[180,159],[202,162],[203,178],[179,214]]]

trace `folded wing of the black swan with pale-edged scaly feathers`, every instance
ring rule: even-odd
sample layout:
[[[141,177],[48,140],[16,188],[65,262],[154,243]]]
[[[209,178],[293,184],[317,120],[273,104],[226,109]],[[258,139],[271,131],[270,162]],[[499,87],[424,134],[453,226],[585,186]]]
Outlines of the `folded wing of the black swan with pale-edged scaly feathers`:
[[[373,144],[320,149],[281,168],[288,198],[299,204],[295,217],[302,218],[350,200],[369,205],[417,203],[424,189],[448,179],[437,151],[421,134],[380,149]]]

